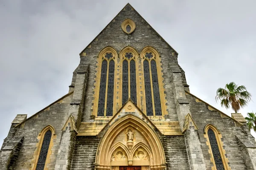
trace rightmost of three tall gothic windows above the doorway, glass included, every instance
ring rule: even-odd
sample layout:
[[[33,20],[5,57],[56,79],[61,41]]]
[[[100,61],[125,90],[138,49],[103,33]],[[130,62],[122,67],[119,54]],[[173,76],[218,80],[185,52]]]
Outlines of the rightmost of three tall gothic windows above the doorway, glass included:
[[[144,74],[145,111],[147,116],[163,116],[165,112],[160,55],[147,46],[140,52]]]

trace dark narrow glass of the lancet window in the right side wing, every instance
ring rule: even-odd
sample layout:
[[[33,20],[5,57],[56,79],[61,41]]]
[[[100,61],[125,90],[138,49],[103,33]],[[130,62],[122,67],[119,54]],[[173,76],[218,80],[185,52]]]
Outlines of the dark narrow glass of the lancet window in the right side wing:
[[[218,149],[218,143],[216,140],[216,136],[212,129],[208,130],[208,137],[209,137],[210,145],[212,148],[212,154],[213,154],[216,168],[217,168],[217,170],[224,170],[223,162],[221,159],[221,153]]]

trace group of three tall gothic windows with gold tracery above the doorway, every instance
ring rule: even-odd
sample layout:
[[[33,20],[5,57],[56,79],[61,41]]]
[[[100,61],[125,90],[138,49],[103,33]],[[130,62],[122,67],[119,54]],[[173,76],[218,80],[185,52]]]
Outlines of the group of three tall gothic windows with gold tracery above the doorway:
[[[151,46],[140,54],[127,46],[119,55],[108,46],[99,53],[96,71],[94,116],[113,116],[129,98],[147,116],[167,114],[160,55]]]

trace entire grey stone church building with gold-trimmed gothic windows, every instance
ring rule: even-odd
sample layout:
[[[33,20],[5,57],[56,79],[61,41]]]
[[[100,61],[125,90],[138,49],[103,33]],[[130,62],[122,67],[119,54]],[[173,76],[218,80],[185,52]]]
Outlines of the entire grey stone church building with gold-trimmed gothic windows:
[[[177,56],[127,4],[81,51],[69,92],[16,116],[0,169],[256,170],[244,117],[191,94]]]

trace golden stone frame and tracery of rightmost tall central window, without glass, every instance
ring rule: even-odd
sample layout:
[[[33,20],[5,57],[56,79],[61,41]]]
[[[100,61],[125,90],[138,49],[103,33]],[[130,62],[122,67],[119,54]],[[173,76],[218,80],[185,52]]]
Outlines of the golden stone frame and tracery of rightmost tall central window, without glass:
[[[150,72],[150,75],[152,76],[152,73],[151,73],[151,62],[154,61],[154,65],[156,66],[156,69],[157,69],[157,79],[158,79],[158,88],[159,88],[159,95],[160,95],[160,108],[158,108],[158,110],[161,110],[161,115],[160,114],[156,114],[156,110],[155,109],[155,103],[154,103],[154,97],[153,97],[153,84],[151,84],[151,98],[152,98],[152,108],[153,108],[153,113],[150,115],[148,114],[148,112],[146,111],[147,107],[146,107],[146,89],[144,88],[145,87],[145,81],[143,81],[143,99],[144,99],[144,105],[143,105],[143,111],[144,113],[147,114],[147,116],[164,116],[167,113],[167,110],[166,110],[166,94],[164,93],[165,89],[164,89],[164,79],[163,79],[163,73],[162,73],[162,63],[161,63],[161,57],[160,57],[160,54],[159,52],[152,46],[146,46],[144,47],[141,51],[140,51],[140,58],[141,58],[141,71],[143,74],[144,73],[144,65],[143,65],[143,62],[146,60],[148,61],[148,65],[150,67],[149,69],[149,72]],[[144,75],[145,76],[145,75]],[[143,77],[144,79],[144,77]],[[151,81],[152,83],[152,81]],[[159,103],[159,102],[158,102]]]

